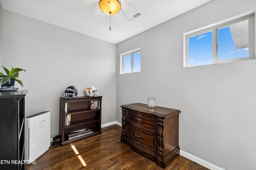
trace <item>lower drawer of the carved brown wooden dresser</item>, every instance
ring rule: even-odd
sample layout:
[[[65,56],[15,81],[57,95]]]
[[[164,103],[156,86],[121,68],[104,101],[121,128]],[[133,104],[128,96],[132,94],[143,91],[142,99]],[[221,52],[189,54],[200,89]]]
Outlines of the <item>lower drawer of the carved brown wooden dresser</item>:
[[[141,129],[127,125],[127,138],[142,146],[148,146],[153,150],[157,149],[157,135],[145,132]]]

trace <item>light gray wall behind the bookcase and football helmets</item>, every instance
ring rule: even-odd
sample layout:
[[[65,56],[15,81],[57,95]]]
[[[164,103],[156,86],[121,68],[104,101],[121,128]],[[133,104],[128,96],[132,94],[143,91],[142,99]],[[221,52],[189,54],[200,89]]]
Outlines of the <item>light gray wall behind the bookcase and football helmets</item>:
[[[116,45],[2,10],[2,64],[20,73],[26,116],[51,111],[51,137],[58,135],[60,97],[68,86],[85,96],[95,86],[102,98],[102,124],[116,121]],[[16,83],[16,87],[22,87]]]

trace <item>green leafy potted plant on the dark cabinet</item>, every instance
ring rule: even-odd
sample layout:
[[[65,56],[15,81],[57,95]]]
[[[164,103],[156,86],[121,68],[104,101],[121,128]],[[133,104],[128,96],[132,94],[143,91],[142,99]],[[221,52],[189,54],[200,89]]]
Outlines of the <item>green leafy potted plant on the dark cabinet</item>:
[[[1,79],[1,87],[3,88],[14,88],[14,82],[18,82],[22,87],[23,87],[23,83],[21,80],[18,80],[17,78],[19,77],[19,72],[20,71],[24,71],[26,72],[26,70],[22,69],[22,68],[13,68],[11,70],[8,70],[7,68],[1,66],[2,68],[4,68],[4,71],[6,72],[6,74],[3,74],[2,72],[0,72],[0,79]]]

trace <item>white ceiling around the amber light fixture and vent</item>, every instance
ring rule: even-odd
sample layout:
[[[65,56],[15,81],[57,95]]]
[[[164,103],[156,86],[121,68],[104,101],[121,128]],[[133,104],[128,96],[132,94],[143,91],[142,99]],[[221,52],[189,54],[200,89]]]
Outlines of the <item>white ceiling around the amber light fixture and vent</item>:
[[[110,43],[120,43],[210,0],[121,0],[121,10],[103,13],[98,0],[0,0],[2,8]],[[142,16],[125,19],[137,11]]]

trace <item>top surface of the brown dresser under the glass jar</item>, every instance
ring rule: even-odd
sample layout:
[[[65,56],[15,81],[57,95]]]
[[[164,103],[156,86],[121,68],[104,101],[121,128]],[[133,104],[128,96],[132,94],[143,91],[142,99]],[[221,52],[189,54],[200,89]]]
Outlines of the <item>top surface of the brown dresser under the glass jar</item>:
[[[156,108],[148,108],[147,104],[142,104],[142,103],[125,104],[125,105],[122,105],[121,107],[129,108],[129,109],[144,112],[144,113],[151,113],[151,114],[157,114],[157,115],[163,115],[163,116],[180,113],[180,110],[171,109],[167,107],[156,106]]]

